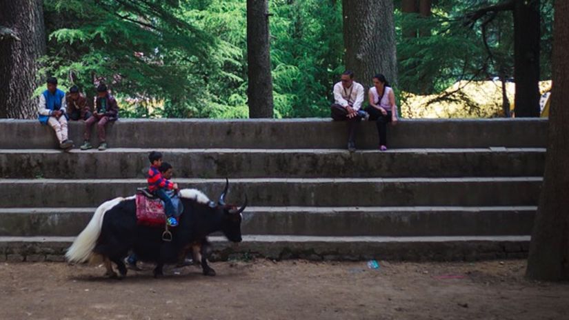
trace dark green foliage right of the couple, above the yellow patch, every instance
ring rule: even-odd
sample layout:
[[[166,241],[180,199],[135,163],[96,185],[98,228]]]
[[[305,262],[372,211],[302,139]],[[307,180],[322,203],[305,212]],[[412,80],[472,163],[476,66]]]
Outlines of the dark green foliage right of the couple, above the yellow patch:
[[[550,78],[552,2],[541,0],[542,79]],[[461,80],[513,77],[512,12],[497,12],[493,19],[488,15],[475,22],[465,19],[470,12],[499,3],[503,0],[433,1],[431,17],[397,10],[400,89],[437,94]],[[419,30],[421,36],[403,37],[401,30]]]

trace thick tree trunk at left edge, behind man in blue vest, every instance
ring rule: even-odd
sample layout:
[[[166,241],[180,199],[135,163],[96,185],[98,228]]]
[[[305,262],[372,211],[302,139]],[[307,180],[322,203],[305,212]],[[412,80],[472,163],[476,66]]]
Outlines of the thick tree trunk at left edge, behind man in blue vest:
[[[38,58],[46,53],[42,0],[0,1],[0,118],[31,119],[39,84]]]

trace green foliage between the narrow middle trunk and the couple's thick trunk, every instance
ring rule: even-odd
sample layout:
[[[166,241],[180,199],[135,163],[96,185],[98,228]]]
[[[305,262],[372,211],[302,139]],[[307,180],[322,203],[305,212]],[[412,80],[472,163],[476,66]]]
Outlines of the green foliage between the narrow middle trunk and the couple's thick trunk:
[[[340,2],[270,2],[274,108],[282,117],[329,117],[343,71]]]

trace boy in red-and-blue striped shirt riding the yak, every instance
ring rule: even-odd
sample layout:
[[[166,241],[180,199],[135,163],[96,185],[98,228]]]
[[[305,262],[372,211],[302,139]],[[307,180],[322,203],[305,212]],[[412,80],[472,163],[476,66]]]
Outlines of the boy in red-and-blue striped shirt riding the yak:
[[[172,199],[168,197],[167,190],[177,190],[178,184],[172,183],[168,179],[164,179],[160,172],[162,165],[162,154],[157,151],[152,151],[148,154],[150,160],[150,169],[148,169],[148,190],[164,201],[164,211],[166,213],[166,223],[170,227],[178,226],[178,220],[174,216],[175,208]]]

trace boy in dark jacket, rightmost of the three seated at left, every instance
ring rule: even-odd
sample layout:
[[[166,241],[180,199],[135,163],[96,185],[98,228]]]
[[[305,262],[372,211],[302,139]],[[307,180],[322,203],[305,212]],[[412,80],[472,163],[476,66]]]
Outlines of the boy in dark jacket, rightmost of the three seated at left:
[[[97,87],[97,98],[95,99],[95,106],[93,115],[85,121],[85,134],[83,138],[85,143],[81,146],[81,150],[88,150],[93,148],[90,143],[91,127],[97,123],[97,134],[99,134],[99,150],[107,150],[107,140],[105,126],[108,122],[115,121],[119,118],[119,106],[117,100],[109,94],[107,86],[100,84]]]

